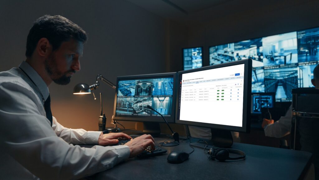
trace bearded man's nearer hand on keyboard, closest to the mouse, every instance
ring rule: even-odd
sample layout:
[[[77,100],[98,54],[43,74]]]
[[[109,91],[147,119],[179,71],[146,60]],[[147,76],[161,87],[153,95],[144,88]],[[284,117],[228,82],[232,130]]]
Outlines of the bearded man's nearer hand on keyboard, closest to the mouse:
[[[152,146],[153,148],[155,146],[154,139],[149,134],[143,134],[140,137],[131,139],[125,145],[130,147],[130,158],[142,153],[147,146]]]

